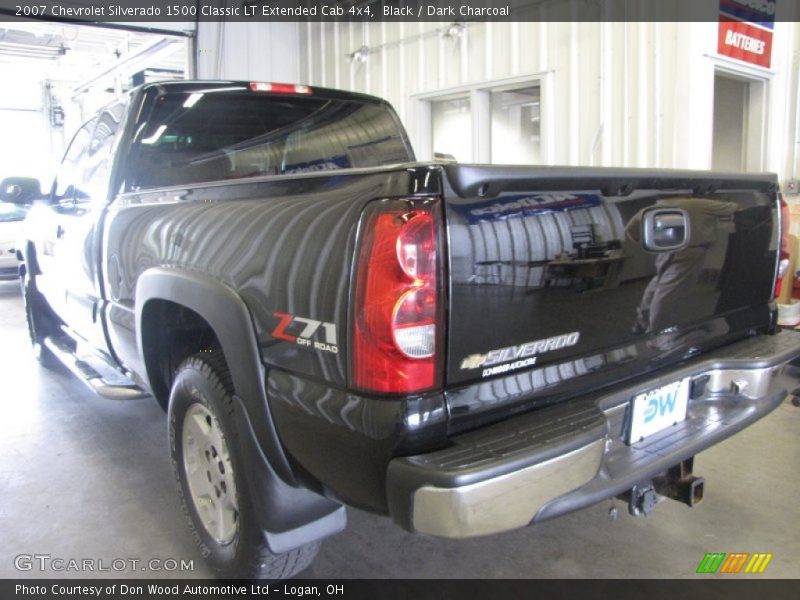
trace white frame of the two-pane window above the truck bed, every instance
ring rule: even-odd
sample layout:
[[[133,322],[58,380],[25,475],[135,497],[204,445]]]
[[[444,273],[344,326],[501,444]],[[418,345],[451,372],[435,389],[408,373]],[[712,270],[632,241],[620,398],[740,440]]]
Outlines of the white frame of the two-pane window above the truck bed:
[[[490,163],[492,158],[492,92],[507,92],[527,87],[541,91],[540,135],[542,164],[552,164],[555,157],[553,126],[555,104],[552,101],[551,71],[462,85],[410,97],[414,126],[410,132],[419,160],[433,159],[433,121],[431,104],[439,100],[469,97],[472,118],[472,162]]]

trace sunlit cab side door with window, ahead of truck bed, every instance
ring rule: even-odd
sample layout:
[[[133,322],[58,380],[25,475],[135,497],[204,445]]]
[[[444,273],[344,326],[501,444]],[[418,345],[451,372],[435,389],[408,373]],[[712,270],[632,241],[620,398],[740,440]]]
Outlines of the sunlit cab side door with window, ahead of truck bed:
[[[100,318],[100,219],[123,114],[122,103],[106,108],[73,138],[53,183],[37,247],[42,293],[75,333],[101,350],[107,345]]]

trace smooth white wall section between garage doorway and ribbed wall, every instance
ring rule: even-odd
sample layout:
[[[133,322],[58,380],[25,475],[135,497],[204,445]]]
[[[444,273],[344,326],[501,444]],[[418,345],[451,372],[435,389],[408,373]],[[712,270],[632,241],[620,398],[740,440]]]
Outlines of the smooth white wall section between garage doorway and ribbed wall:
[[[196,76],[296,82],[298,33],[297,23],[198,23]]]

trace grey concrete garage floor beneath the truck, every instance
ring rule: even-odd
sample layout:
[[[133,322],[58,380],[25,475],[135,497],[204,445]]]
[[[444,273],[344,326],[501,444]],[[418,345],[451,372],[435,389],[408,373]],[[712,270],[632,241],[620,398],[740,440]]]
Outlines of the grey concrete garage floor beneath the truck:
[[[80,576],[20,572],[19,555],[63,559],[185,559],[209,577],[178,505],[166,420],[150,399],[114,403],[30,355],[17,284],[0,283],[0,578]],[[608,516],[610,502],[533,528],[449,541],[405,533],[348,511],[304,577],[683,578],[706,552],[770,552],[764,576],[800,576],[800,409],[776,412],[698,456],[706,496],[694,509],[659,504],[650,518]],[[97,564],[97,563],[95,563]],[[141,567],[139,567],[141,568]],[[92,576],[85,573],[83,576]]]

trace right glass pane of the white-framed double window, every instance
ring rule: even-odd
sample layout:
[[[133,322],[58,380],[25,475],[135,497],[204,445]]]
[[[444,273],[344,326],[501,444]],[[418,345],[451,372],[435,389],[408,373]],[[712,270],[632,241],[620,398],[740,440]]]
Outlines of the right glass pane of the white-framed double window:
[[[539,87],[492,92],[492,162],[532,165],[541,162]]]

